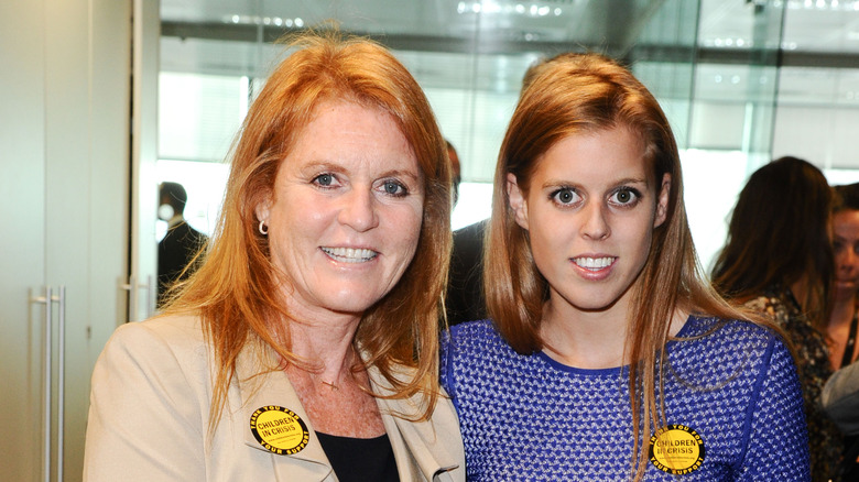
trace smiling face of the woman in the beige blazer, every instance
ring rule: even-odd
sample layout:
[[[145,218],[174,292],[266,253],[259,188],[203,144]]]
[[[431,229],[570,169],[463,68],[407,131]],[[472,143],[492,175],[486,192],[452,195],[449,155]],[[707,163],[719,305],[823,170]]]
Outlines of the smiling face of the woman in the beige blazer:
[[[424,205],[417,158],[390,114],[324,102],[257,208],[296,315],[360,316],[400,280]]]

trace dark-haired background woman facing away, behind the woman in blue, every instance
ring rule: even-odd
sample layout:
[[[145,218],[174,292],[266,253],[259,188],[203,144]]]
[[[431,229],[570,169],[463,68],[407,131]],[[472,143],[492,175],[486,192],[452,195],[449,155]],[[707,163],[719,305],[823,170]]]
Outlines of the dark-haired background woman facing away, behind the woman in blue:
[[[755,171],[740,191],[713,283],[722,296],[775,321],[793,344],[805,399],[812,480],[835,479],[840,432],[820,391],[831,375],[826,326],[834,260],[833,194],[820,169],[781,157]]]

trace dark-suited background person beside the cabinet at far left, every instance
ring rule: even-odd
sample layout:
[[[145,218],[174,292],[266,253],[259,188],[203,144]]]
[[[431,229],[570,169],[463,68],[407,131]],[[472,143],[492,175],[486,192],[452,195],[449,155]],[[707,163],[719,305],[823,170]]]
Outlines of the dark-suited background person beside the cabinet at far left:
[[[208,238],[185,220],[188,195],[181,184],[161,183],[159,198],[159,219],[167,222],[167,232],[159,242],[159,306],[164,306],[171,286],[187,280],[196,267],[194,258]]]

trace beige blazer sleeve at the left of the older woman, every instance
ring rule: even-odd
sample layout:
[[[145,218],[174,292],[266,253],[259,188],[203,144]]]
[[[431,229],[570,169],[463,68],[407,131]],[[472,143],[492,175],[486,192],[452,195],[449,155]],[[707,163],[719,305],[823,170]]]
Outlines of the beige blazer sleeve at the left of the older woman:
[[[143,325],[120,327],[96,362],[84,480],[205,480],[205,379],[188,380],[189,359]]]

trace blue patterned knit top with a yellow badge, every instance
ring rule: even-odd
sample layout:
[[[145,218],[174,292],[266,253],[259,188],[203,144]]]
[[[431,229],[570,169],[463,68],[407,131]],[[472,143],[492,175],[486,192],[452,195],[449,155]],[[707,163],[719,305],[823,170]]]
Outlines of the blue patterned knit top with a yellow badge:
[[[781,339],[750,322],[697,317],[678,337],[689,339],[667,344],[668,426],[644,439],[644,480],[809,480],[803,397]],[[519,354],[483,320],[443,337],[441,370],[468,480],[631,480],[628,369]]]

